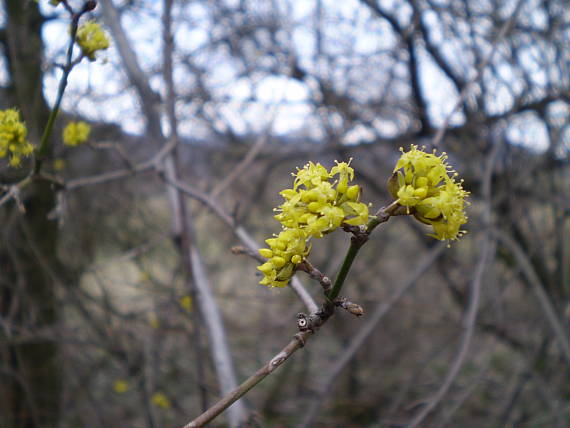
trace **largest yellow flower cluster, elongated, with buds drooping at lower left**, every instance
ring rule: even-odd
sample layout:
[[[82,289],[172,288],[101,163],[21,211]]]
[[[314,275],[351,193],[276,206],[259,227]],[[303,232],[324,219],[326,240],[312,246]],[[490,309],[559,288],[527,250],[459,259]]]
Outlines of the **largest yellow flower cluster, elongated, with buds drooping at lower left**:
[[[354,170],[348,163],[337,162],[328,171],[309,162],[293,176],[293,188],[280,192],[285,202],[276,209],[275,219],[283,230],[265,241],[269,248],[259,250],[268,259],[258,267],[264,275],[261,284],[270,287],[287,285],[296,266],[308,255],[311,238],[321,238],[342,224],[368,222],[368,206],[359,202],[360,187],[350,185]]]

